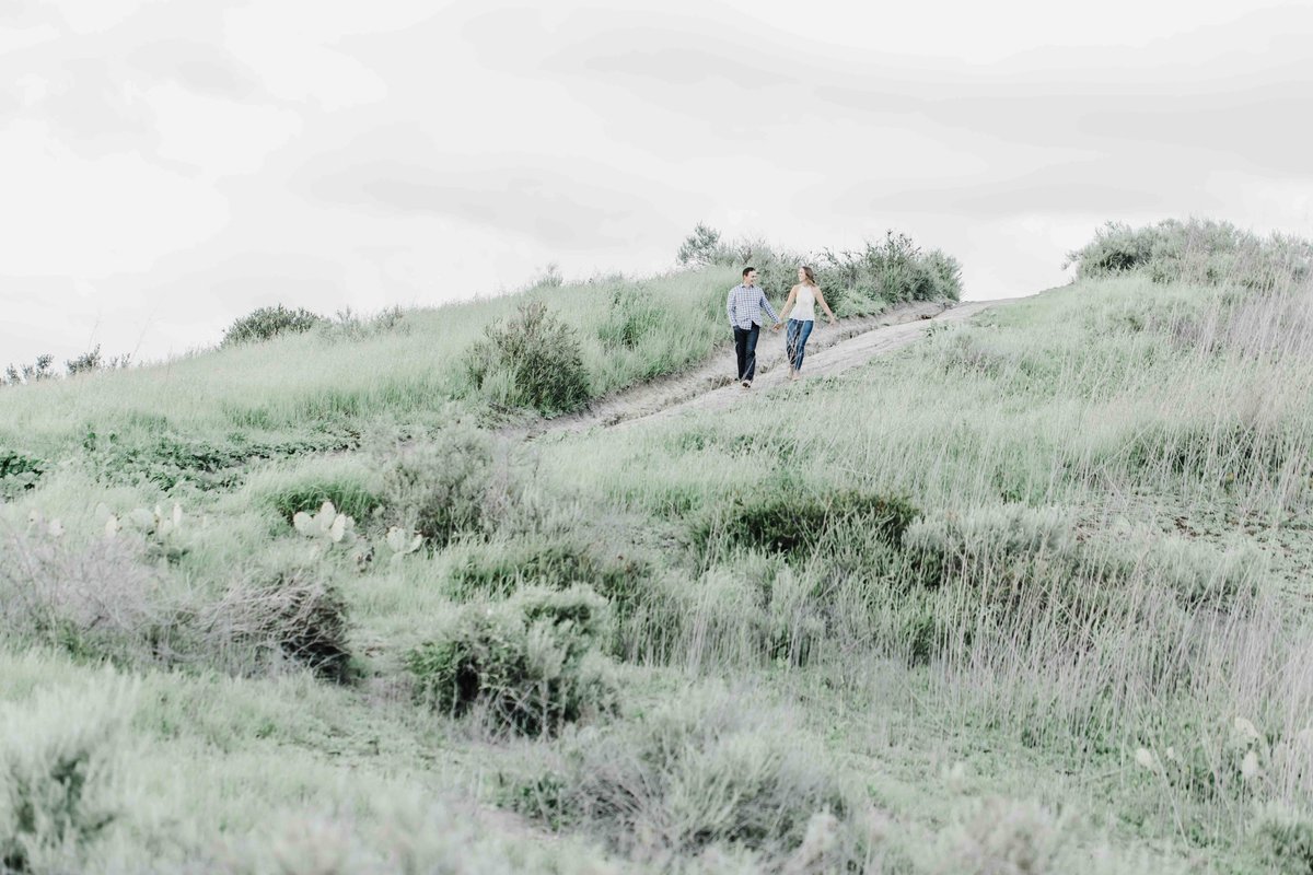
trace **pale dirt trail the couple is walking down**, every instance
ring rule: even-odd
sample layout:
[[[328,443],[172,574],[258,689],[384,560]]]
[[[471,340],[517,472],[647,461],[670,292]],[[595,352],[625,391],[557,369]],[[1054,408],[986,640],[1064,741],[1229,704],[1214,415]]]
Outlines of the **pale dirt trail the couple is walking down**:
[[[876,356],[893,352],[923,336],[930,325],[961,321],[995,304],[970,300],[945,308],[941,303],[895,307],[880,316],[846,319],[831,327],[818,321],[807,341],[804,379],[839,374]],[[676,416],[685,411],[723,409],[773,386],[789,382],[784,358],[784,332],[763,331],[756,348],[756,379],[744,390],[731,379],[734,349],[718,352],[691,371],[624,390],[595,401],[588,409],[536,422],[520,434],[527,438],[558,432],[584,432],[595,426],[630,425]]]

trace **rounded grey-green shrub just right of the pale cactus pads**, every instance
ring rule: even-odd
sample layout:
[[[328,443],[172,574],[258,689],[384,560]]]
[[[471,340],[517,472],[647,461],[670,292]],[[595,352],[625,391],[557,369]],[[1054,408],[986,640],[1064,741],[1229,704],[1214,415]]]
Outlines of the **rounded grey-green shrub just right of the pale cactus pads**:
[[[403,450],[383,472],[382,513],[389,525],[442,547],[482,531],[495,518],[498,487],[488,436],[453,422]]]

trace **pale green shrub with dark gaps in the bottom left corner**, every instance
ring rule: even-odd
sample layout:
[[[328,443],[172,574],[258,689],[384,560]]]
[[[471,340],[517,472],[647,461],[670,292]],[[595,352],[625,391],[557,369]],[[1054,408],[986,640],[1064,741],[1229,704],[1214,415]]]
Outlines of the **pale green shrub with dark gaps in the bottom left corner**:
[[[114,674],[0,711],[0,868],[83,871],[123,813],[137,687]]]

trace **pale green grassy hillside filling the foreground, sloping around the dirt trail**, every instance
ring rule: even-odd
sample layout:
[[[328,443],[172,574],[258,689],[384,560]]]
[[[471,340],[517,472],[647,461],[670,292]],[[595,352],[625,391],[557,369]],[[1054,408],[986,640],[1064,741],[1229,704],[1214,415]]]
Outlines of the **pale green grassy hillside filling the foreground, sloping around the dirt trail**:
[[[53,462],[0,506],[0,858],[1309,871],[1313,291],[1283,275],[1132,264],[727,415],[528,443],[433,340],[511,302],[176,363],[154,426],[151,370],[0,391]],[[681,367],[726,275],[660,282],[706,308],[705,346],[660,341]],[[643,378],[593,344],[596,386]],[[330,375],[355,400],[307,405]],[[101,417],[353,434],[202,489],[104,467]]]

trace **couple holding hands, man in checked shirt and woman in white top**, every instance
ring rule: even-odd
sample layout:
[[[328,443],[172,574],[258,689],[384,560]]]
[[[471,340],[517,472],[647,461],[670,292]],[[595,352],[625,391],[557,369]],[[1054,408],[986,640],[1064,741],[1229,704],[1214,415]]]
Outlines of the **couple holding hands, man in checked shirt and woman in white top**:
[[[834,312],[825,302],[821,287],[817,286],[815,274],[811,268],[798,268],[798,283],[789,290],[789,298],[784,302],[783,312],[776,316],[771,302],[765,298],[765,291],[756,285],[756,268],[743,268],[743,282],[730,289],[725,300],[725,314],[730,317],[730,327],[734,329],[734,353],[738,356],[738,379],[743,388],[752,388],[752,376],[756,375],[756,338],[762,332],[762,311],[764,310],[775,324],[772,331],[780,331],[785,325],[784,317],[789,316],[785,352],[789,357],[789,379],[798,379],[802,370],[802,353],[811,336],[811,327],[815,324],[815,304],[819,302],[825,307],[830,324],[834,324]]]

